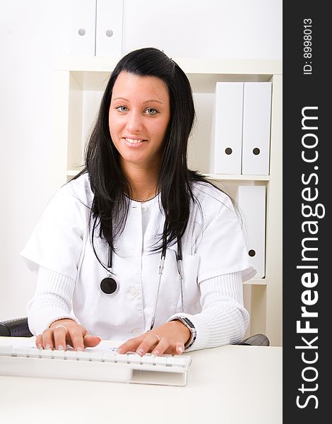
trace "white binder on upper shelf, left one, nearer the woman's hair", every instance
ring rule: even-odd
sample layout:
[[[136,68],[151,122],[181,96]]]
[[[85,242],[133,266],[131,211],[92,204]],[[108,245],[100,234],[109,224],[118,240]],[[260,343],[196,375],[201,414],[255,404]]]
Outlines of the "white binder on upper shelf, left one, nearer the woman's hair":
[[[241,174],[244,83],[215,86],[212,172]]]

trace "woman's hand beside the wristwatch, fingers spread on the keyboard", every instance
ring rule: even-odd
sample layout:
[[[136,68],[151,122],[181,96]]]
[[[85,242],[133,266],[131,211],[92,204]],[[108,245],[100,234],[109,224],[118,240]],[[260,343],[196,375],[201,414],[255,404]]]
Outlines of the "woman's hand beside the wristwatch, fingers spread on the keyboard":
[[[141,356],[147,352],[152,352],[157,356],[163,353],[181,355],[190,336],[189,329],[181,321],[170,321],[141,334],[141,336],[129,338],[119,346],[117,352],[136,352]]]

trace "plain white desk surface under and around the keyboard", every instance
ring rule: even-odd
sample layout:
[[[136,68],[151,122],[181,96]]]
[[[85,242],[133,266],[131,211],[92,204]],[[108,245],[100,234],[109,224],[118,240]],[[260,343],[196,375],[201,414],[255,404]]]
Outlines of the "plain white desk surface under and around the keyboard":
[[[0,376],[1,423],[282,423],[282,348],[188,354],[185,387]]]

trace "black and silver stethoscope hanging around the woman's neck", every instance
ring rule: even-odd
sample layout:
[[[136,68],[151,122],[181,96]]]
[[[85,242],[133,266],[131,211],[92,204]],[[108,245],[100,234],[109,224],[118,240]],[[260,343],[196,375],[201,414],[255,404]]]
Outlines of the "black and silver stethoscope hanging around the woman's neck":
[[[152,319],[150,324],[150,330],[152,330],[153,326],[155,325],[155,310],[156,310],[157,302],[158,302],[158,294],[160,289],[162,272],[164,271],[165,257],[166,257],[166,249],[163,248],[161,257],[160,257],[158,285],[157,285],[157,290],[155,293],[155,301],[153,303],[153,314],[152,314]],[[113,255],[112,255],[112,248],[109,245],[108,261],[107,261],[107,277],[103,278],[102,281],[100,282],[100,290],[102,290],[102,293],[104,293],[105,295],[112,295],[117,290],[119,290],[119,283],[117,282],[116,278],[114,278],[114,273],[112,273],[112,266],[113,266]],[[182,312],[184,312],[182,243],[181,243],[181,238],[179,237],[177,237],[177,271],[179,273],[180,285],[181,285],[180,293],[181,293]]]

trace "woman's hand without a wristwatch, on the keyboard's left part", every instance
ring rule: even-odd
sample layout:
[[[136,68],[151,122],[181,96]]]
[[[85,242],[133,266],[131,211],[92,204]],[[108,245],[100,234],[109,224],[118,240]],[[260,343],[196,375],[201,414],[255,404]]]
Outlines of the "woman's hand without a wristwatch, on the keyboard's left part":
[[[99,336],[90,336],[88,331],[73,319],[59,319],[52,322],[48,329],[36,338],[36,346],[41,349],[66,350],[66,345],[73,346],[74,351],[83,351],[84,348],[93,348],[100,343]]]

